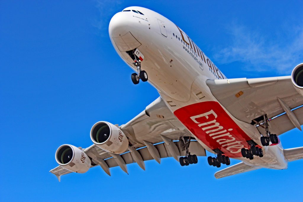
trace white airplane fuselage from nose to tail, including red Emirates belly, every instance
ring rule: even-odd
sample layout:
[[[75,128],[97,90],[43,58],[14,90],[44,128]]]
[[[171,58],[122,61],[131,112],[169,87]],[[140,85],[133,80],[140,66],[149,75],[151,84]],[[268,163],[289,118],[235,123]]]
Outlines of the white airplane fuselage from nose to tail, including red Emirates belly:
[[[113,16],[109,35],[117,53],[135,71],[126,51],[140,51],[144,56],[141,69],[147,72],[148,81],[206,150],[219,149],[248,165],[287,168],[280,141],[261,146],[256,127],[234,118],[211,94],[205,81],[226,77],[173,22],[149,9],[128,7]],[[249,160],[241,156],[241,148],[249,147],[248,140],[262,148],[264,157]]]

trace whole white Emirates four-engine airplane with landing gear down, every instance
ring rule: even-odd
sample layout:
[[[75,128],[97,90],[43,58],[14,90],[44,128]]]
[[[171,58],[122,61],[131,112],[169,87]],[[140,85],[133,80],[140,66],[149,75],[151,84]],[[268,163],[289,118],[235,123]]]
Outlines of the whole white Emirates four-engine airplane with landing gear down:
[[[279,135],[303,124],[303,63],[290,76],[227,78],[188,35],[164,16],[131,6],[116,13],[109,36],[132,68],[132,82],[148,81],[160,96],[126,124],[95,123],[87,148],[63,144],[50,172],[85,173],[100,165],[108,175],[119,166],[173,157],[181,166],[212,154],[210,166],[227,177],[259,168],[287,169],[303,147],[283,149]]]

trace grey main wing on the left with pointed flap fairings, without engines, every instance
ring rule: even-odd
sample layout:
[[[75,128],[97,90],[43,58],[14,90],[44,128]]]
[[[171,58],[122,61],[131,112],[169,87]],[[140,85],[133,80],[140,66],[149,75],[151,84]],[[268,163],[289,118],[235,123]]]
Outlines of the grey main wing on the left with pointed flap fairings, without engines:
[[[180,137],[191,137],[191,132],[185,128],[174,114],[167,108],[161,97],[149,104],[144,111],[126,124],[118,126],[128,137],[132,146],[121,154],[106,152],[95,144],[82,149],[91,159],[91,167],[100,165],[110,175],[110,167],[120,166],[128,173],[127,164],[137,163],[145,170],[144,161],[155,159],[160,163],[161,158],[185,156],[184,141]],[[205,149],[193,138],[185,138],[189,144],[189,152],[197,156],[206,156]],[[188,141],[189,140],[189,141]],[[60,181],[60,176],[71,171],[58,166],[50,171]]]

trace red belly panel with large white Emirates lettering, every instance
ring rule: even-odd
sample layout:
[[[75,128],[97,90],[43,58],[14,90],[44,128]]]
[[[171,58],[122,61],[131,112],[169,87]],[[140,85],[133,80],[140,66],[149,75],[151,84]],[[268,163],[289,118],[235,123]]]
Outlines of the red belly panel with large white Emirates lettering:
[[[209,148],[219,149],[228,157],[242,157],[241,148],[249,148],[246,141],[251,140],[251,138],[248,137],[248,135],[245,134],[245,132],[242,131],[242,129],[228,116],[218,102],[207,101],[191,104],[176,110],[174,114],[188,128],[188,130],[190,130]],[[197,117],[198,115],[201,117]],[[223,129],[214,132],[210,131],[215,128],[219,129],[219,127],[205,129],[205,127],[211,126],[211,124],[207,124],[207,122],[210,121],[219,124],[217,126],[221,126]],[[199,124],[202,125],[198,126]],[[232,130],[228,131],[228,129]],[[226,130],[226,132],[215,134],[224,130]],[[216,137],[222,134],[228,135]]]

